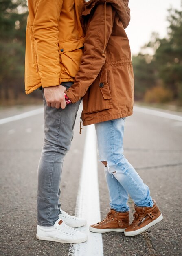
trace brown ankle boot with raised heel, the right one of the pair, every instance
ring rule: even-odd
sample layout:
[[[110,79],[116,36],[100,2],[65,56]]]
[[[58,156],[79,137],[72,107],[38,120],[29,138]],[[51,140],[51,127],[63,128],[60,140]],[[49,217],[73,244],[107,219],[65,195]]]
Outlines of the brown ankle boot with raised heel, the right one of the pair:
[[[160,210],[156,206],[156,202],[153,202],[153,207],[139,207],[134,205],[136,211],[134,212],[134,220],[125,229],[125,236],[136,236],[162,220],[162,213],[160,213]]]

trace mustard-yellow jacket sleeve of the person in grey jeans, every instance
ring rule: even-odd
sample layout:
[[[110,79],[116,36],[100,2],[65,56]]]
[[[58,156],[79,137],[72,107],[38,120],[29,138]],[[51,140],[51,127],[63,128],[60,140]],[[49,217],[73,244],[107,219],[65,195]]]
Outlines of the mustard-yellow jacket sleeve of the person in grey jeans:
[[[35,6],[33,37],[42,87],[60,81],[58,22],[63,0],[39,0]]]

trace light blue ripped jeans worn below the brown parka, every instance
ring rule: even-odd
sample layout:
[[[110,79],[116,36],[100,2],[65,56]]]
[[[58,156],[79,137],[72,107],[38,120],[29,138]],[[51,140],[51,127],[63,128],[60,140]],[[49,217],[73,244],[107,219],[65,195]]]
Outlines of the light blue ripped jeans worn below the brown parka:
[[[125,118],[95,124],[100,161],[107,161],[110,207],[121,212],[129,211],[128,194],[137,206],[153,206],[148,186],[123,155],[124,124]]]

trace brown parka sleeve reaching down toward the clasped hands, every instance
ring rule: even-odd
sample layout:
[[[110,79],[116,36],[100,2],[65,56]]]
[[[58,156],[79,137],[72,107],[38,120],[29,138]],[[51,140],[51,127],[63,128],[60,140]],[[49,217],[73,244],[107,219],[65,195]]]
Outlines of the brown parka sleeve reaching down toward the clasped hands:
[[[105,63],[105,47],[112,33],[114,16],[115,11],[110,4],[99,4],[88,22],[80,69],[74,84],[66,91],[72,103],[86,94]]]

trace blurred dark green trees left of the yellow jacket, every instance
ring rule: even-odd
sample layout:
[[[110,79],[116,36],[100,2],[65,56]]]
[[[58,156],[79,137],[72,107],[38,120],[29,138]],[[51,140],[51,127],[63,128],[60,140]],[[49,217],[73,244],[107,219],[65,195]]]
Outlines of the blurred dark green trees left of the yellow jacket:
[[[0,98],[24,92],[26,0],[0,0]]]

